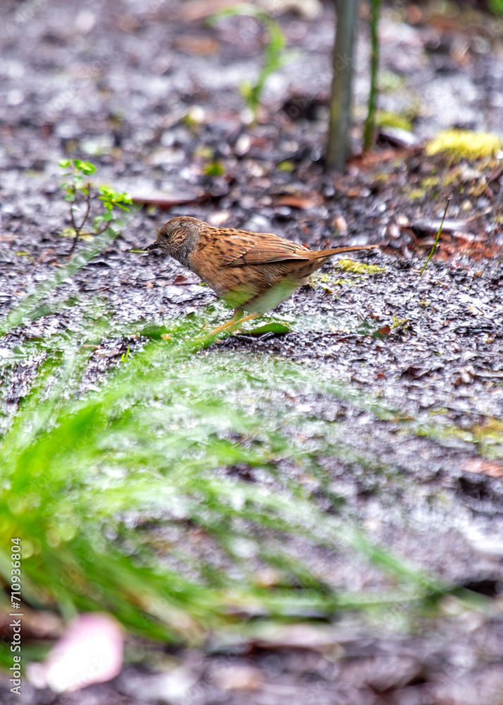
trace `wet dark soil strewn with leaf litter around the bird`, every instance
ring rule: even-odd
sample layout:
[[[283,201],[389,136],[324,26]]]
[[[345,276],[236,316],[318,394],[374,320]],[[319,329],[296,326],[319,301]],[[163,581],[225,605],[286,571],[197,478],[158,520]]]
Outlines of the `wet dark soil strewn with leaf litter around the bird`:
[[[292,627],[247,644],[157,654],[156,668],[128,666],[111,684],[59,700],[28,684],[16,699],[3,680],[2,702],[498,703],[503,236],[502,186],[490,181],[497,160],[464,164],[461,188],[445,178],[445,161],[427,159],[418,147],[383,145],[354,159],[344,176],[325,173],[330,6],[312,20],[278,17],[299,53],[268,82],[257,125],[237,87],[259,71],[263,32],[249,18],[210,29],[190,14],[194,8],[55,1],[25,6],[24,14],[14,4],[5,9],[1,312],[66,264],[71,243],[60,233],[70,221],[58,159],[90,159],[101,181],[139,202],[179,204],[135,214],[112,245],[49,295],[67,305],[0,341],[2,360],[19,360],[3,368],[2,423],[8,425],[42,359],[23,357],[23,345],[84,328],[86,306],[124,324],[163,326],[202,310],[214,324],[223,319],[227,312],[220,304],[209,308],[214,295],[196,276],[158,252],[131,252],[174,215],[274,231],[310,247],[327,240],[383,243],[378,252],[352,257],[382,271],[347,271],[335,262],[280,305],[275,316],[292,324],[285,336],[238,334],[200,354],[310,365],[399,410],[413,434],[350,400],[335,405],[306,393],[290,402],[306,417],[340,422],[341,444],[351,436],[360,460],[323,464],[366,533],[449,583],[490,596],[491,606],[457,619],[446,600],[443,620],[418,617],[412,625],[400,622],[395,607],[378,620],[344,615],[306,626],[301,637]],[[414,107],[419,139],[447,125],[503,131],[501,40],[489,20],[476,17],[469,27],[462,17],[442,25],[436,16],[412,25],[385,10],[383,68],[394,87],[383,93],[382,106]],[[359,106],[368,87],[363,22],[360,35]],[[358,137],[355,131],[355,146]],[[209,176],[215,162],[223,173]],[[483,178],[489,190],[479,188]],[[448,196],[451,221],[440,254],[420,277]],[[71,298],[79,305],[69,305]],[[128,345],[141,344],[134,333],[105,341],[92,357],[87,388]],[[368,466],[361,458],[371,459]],[[253,470],[251,479],[261,482]],[[317,570],[325,560],[327,577],[345,588],[375,578],[348,556],[313,560]]]

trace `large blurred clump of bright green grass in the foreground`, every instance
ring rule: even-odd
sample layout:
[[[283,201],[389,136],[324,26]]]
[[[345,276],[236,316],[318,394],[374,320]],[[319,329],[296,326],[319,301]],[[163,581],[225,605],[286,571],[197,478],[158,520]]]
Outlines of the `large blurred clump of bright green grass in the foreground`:
[[[290,393],[299,383],[305,388],[294,367],[273,375],[267,368],[274,365],[248,362],[236,379],[229,360],[194,359],[156,338],[130,353],[106,386],[75,400],[88,356],[75,341],[72,355],[48,357],[0,450],[0,525],[4,535],[22,540],[26,601],[67,618],[105,608],[134,634],[199,643],[232,612],[246,615],[247,605],[250,616],[261,605],[270,618],[281,618],[368,600],[327,591],[302,560],[287,558],[285,535],[334,549],[343,541],[363,551],[405,580],[406,599],[432,589],[433,582],[356,529],[324,515],[302,482],[276,472],[278,463],[290,461],[319,475],[316,447],[307,447],[297,431],[279,430],[280,405],[264,418],[240,408],[239,399],[243,393],[260,399],[266,389],[270,395],[271,378]],[[344,455],[340,441],[335,434],[323,452]],[[269,472],[275,490],[219,472],[243,463]],[[154,550],[155,532],[139,528],[153,516],[166,527],[185,527],[180,546],[167,556]],[[194,525],[211,539],[217,565],[187,548],[184,534]],[[247,541],[246,558],[237,550],[240,541]],[[0,556],[7,580],[6,556]],[[282,566],[278,594],[255,584],[264,562]],[[309,576],[305,589],[299,575]],[[371,601],[380,599],[389,595]]]

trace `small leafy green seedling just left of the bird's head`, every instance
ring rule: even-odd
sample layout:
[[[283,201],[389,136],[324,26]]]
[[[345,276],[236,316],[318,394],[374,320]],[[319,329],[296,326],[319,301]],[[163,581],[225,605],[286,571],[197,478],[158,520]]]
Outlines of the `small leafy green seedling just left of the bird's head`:
[[[75,250],[75,245],[79,238],[94,238],[95,235],[101,235],[106,231],[106,228],[110,227],[112,222],[116,219],[114,214],[114,209],[120,208],[123,211],[128,211],[129,208],[127,203],[131,203],[131,198],[126,193],[119,193],[114,191],[109,186],[99,186],[97,189],[94,188],[91,181],[87,180],[86,177],[91,176],[96,173],[96,166],[91,164],[90,161],[82,161],[81,159],[62,159],[59,162],[59,166],[63,169],[69,169],[63,174],[63,177],[68,177],[68,180],[63,181],[61,184],[61,189],[66,192],[65,200],[70,203],[70,219],[72,221],[72,227],[66,228],[63,234],[69,234],[73,236],[73,243],[68,252],[68,256],[73,254]],[[89,214],[91,212],[92,200],[95,197],[101,201],[101,206],[103,211],[92,219],[92,228],[89,232],[84,233],[82,229],[89,219]],[[79,204],[84,206],[84,215],[77,223],[76,212],[78,210]]]

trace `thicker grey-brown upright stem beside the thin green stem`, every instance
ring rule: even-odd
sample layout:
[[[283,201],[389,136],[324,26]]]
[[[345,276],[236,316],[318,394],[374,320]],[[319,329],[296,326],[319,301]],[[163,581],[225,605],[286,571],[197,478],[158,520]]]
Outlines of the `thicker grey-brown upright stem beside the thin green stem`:
[[[334,0],[337,31],[333,51],[333,80],[330,96],[330,132],[327,166],[342,171],[349,149],[352,109],[352,77],[356,49],[359,0]]]

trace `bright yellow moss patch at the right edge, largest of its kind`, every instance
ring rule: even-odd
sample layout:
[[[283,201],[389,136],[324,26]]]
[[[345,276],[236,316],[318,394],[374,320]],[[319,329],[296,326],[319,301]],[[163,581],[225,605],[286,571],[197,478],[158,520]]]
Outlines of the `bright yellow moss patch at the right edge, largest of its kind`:
[[[451,164],[461,159],[480,159],[492,157],[502,148],[502,140],[491,133],[474,133],[470,130],[445,130],[426,145],[426,154],[443,152]]]

